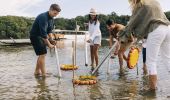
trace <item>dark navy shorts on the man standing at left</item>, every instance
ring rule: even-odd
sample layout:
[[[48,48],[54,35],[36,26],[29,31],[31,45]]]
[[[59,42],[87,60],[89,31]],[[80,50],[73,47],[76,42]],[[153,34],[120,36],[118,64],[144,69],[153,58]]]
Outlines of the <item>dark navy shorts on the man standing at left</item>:
[[[30,37],[30,40],[36,55],[47,54],[46,44],[41,37]]]

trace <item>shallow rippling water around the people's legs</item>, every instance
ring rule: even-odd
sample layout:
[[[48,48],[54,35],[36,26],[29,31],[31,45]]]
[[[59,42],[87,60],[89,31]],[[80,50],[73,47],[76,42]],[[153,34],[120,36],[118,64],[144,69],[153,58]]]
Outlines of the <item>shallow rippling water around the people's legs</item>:
[[[71,39],[58,42],[60,64],[71,64]],[[100,59],[108,50],[107,41],[102,41],[99,50]],[[142,58],[137,68],[127,69],[125,75],[119,75],[118,58],[112,59],[110,74],[106,67],[108,60],[98,71],[98,83],[91,86],[75,86],[72,84],[72,71],[62,71],[58,78],[54,52],[46,56],[47,77],[35,78],[33,73],[36,55],[32,46],[4,47],[0,46],[0,100],[169,100],[169,69],[159,62],[158,90],[155,94],[145,91],[147,77],[143,75]],[[89,74],[90,66],[84,66],[83,38],[77,42],[77,76]],[[89,59],[90,60],[90,59]],[[90,61],[89,61],[90,62]],[[90,64],[90,63],[89,63]]]

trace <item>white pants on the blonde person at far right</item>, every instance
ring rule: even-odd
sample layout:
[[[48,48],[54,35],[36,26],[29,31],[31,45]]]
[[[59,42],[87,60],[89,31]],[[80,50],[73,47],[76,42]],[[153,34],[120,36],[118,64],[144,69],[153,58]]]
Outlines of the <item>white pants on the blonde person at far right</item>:
[[[148,35],[146,65],[148,67],[149,75],[157,74],[157,59],[159,52],[164,66],[170,68],[170,26],[160,25]]]

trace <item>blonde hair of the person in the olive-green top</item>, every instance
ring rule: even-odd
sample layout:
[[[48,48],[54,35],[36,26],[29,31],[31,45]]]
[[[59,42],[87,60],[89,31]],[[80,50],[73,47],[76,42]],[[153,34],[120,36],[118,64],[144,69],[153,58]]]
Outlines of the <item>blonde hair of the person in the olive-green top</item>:
[[[132,9],[132,13],[135,12],[136,8],[141,7],[144,2],[144,0],[129,0],[131,9]]]

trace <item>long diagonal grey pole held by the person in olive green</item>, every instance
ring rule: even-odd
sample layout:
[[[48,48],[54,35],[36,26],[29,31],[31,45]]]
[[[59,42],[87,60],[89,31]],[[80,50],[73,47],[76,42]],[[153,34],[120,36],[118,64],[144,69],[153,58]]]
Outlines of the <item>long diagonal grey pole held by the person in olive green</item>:
[[[115,46],[117,45],[117,43],[118,43],[118,41],[116,41],[114,44],[113,44],[113,46],[109,49],[109,52],[108,53],[106,53],[106,55],[103,57],[103,59],[102,59],[102,61],[101,61],[101,63],[97,66],[97,67],[95,67],[95,69],[92,71],[92,75],[94,75],[96,72],[97,72],[97,70],[101,67],[101,65],[104,63],[104,61],[107,59],[107,57],[110,55],[110,53],[112,52],[112,50],[115,48]]]

